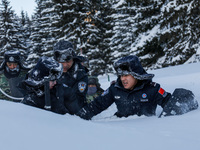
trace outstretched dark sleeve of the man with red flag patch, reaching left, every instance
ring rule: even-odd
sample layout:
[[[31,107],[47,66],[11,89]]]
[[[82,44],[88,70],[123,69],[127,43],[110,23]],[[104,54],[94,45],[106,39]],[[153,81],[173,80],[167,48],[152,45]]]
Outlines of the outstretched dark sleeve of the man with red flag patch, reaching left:
[[[90,120],[93,116],[107,109],[113,102],[112,87],[110,87],[105,90],[102,95],[82,108],[76,115],[83,119]]]

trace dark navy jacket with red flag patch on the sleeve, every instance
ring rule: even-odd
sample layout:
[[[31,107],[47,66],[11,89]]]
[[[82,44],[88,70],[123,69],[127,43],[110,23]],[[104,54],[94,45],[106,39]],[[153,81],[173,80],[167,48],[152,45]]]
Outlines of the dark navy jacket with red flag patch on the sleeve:
[[[118,78],[116,83],[81,109],[77,115],[84,119],[91,119],[115,103],[118,109],[115,115],[118,117],[152,116],[155,115],[157,105],[164,107],[170,97],[170,93],[164,91],[159,84],[151,82],[151,80],[139,81],[133,90],[127,90]]]

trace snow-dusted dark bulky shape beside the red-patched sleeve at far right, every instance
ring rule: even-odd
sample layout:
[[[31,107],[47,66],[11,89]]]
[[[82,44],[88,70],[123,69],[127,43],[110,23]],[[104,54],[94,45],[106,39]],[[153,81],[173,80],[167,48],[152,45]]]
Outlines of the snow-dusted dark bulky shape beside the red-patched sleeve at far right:
[[[174,90],[159,117],[182,115],[198,108],[198,102],[192,91],[183,88]]]

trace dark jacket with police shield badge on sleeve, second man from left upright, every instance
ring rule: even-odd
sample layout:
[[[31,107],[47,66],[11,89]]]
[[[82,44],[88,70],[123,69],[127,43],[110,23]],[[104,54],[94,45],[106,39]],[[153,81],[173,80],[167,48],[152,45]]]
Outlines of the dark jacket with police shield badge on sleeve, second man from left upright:
[[[74,61],[73,66],[58,80],[65,87],[65,107],[70,114],[77,113],[86,104],[88,76],[85,67]]]

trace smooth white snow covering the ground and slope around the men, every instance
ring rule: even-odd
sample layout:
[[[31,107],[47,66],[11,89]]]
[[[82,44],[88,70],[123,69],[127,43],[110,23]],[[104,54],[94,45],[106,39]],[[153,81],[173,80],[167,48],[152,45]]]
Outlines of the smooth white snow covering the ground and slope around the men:
[[[200,63],[148,71],[168,92],[190,89],[200,103]],[[107,76],[99,77],[106,89]],[[110,75],[110,81],[116,76]],[[200,109],[181,116],[113,117],[115,105],[86,121],[0,101],[1,150],[199,150]]]

